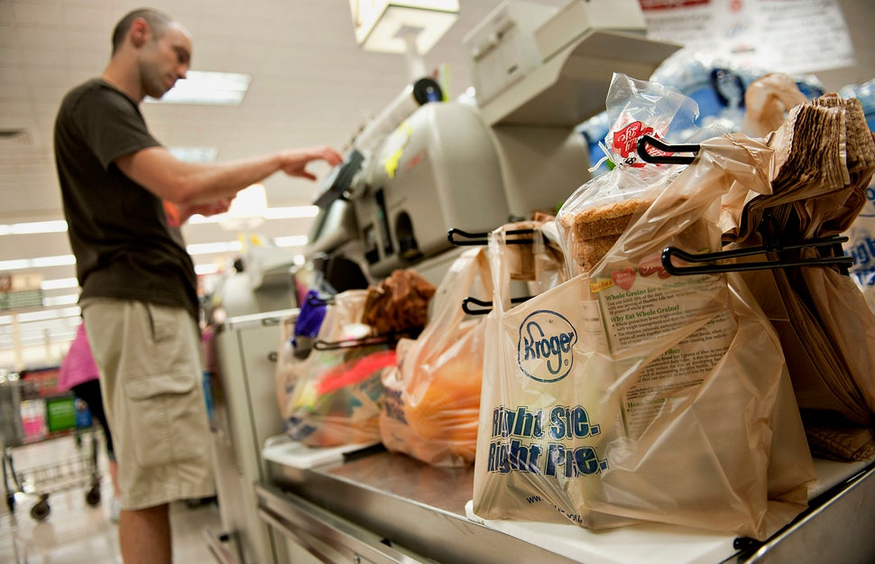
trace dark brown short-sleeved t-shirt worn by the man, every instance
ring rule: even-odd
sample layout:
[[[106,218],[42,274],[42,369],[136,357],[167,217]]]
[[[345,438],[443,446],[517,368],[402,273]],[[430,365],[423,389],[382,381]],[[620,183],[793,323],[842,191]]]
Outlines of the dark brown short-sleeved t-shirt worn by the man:
[[[54,144],[80,297],[180,306],[197,320],[194,264],[171,236],[161,199],[115,166],[160,145],[134,101],[100,79],[73,88],[61,102]]]

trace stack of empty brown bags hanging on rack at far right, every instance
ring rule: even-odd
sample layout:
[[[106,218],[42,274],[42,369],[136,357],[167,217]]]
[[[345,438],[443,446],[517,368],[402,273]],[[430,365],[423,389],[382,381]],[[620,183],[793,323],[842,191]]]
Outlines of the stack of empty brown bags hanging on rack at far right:
[[[855,98],[826,95],[796,106],[777,132],[772,193],[751,194],[724,228],[731,246],[799,243],[841,234],[865,204],[875,143]],[[726,227],[726,226],[724,226]],[[839,249],[839,252],[841,249]],[[815,247],[769,259],[819,256]],[[831,266],[746,273],[787,356],[812,452],[861,460],[875,455],[875,318],[859,288]]]

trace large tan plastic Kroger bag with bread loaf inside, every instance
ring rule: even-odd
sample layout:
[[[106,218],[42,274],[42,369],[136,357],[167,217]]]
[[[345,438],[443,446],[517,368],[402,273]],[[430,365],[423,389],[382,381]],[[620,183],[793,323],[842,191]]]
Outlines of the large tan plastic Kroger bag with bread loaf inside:
[[[513,308],[493,236],[474,513],[762,540],[805,508],[813,463],[769,320],[736,273],[659,262],[668,245],[720,248],[722,195],[767,182],[768,153],[742,136],[704,143],[668,186],[640,190],[646,203],[590,269]]]

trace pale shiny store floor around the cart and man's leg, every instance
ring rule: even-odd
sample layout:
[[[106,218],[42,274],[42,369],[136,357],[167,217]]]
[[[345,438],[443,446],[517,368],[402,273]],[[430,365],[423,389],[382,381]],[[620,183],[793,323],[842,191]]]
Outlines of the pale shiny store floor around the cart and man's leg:
[[[87,479],[87,467],[78,467],[88,456],[86,446],[77,446],[74,437],[52,439],[10,450],[18,474],[33,480],[33,486],[53,489],[67,485],[60,476]],[[51,473],[45,470],[50,467]],[[31,517],[36,498],[16,495],[14,512],[5,504],[0,508],[0,562],[9,564],[121,564],[118,550],[118,527],[109,521],[112,483],[106,472],[102,449],[97,463],[101,476],[102,503],[90,506],[87,484],[67,486],[49,497],[50,513],[38,522]],[[41,468],[41,469],[38,469]],[[84,469],[83,469],[84,468]],[[25,489],[27,485],[25,483]],[[221,521],[215,503],[170,505],[173,534],[173,561],[185,564],[210,563],[216,559],[207,548],[204,530],[219,531]]]

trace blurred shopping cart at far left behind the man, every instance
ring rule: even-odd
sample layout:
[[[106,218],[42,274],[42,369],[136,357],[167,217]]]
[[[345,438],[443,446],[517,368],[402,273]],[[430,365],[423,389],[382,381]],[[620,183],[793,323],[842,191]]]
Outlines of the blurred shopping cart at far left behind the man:
[[[88,488],[85,495],[88,505],[100,503],[97,430],[94,426],[82,428],[76,424],[76,402],[72,393],[58,393],[38,378],[28,381],[9,374],[0,379],[0,448],[6,506],[10,512],[14,512],[18,498],[32,497],[36,502],[31,507],[31,517],[45,521],[51,513],[49,495],[78,486]],[[70,437],[76,439],[73,455],[15,468],[14,454],[18,449]],[[46,450],[66,452],[64,448]]]

